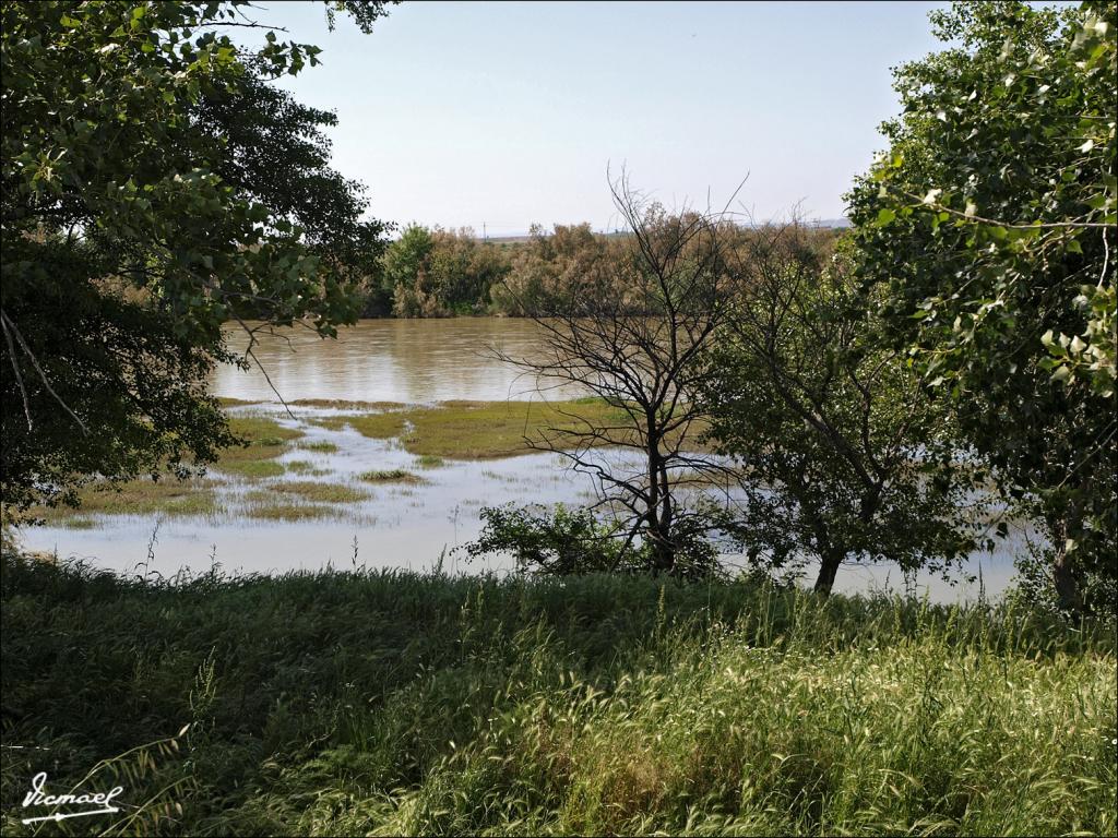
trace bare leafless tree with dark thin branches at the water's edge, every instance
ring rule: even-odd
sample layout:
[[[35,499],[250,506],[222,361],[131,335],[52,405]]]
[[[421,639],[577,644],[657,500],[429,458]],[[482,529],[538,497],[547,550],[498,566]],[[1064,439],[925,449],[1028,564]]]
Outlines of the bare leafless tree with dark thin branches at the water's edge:
[[[541,390],[576,384],[615,408],[610,422],[562,411],[574,427],[529,444],[597,478],[598,506],[622,513],[626,550],[643,544],[651,570],[689,573],[698,570],[686,561],[695,518],[680,488],[697,472],[718,468],[694,453],[698,397],[710,378],[704,352],[729,312],[738,229],[724,209],[669,212],[624,173],[610,189],[628,235],[560,287],[518,299],[539,324],[537,354],[496,354],[536,375]],[[596,451],[603,446],[638,451],[639,472],[604,463]]]

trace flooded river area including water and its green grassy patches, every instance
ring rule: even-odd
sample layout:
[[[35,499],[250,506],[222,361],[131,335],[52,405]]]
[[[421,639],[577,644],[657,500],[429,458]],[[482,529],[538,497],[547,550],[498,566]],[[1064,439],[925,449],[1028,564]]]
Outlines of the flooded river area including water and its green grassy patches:
[[[224,368],[212,381],[246,446],[225,451],[195,480],[88,487],[79,510],[41,511],[46,524],[25,530],[23,542],[97,566],[163,575],[214,562],[245,572],[354,563],[510,568],[505,556],[467,564],[455,547],[476,536],[484,506],[596,501],[589,475],[532,441],[617,419],[615,409],[569,390],[543,400],[536,382],[486,350],[531,353],[533,335],[522,321],[373,321],[337,342],[300,332],[266,342],[257,354],[286,406],[258,371]],[[603,448],[597,456],[613,469],[639,469],[631,449]],[[993,556],[974,558],[970,570],[980,563],[987,593],[1005,587],[1018,549],[1011,540]],[[851,566],[836,589],[900,582],[896,569]],[[937,599],[977,590],[930,575],[917,582]]]

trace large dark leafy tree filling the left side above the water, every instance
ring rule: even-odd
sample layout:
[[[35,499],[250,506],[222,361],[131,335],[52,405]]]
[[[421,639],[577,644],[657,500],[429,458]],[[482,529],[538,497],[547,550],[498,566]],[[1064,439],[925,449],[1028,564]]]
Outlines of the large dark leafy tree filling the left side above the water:
[[[247,362],[222,323],[330,336],[358,313],[383,227],[326,165],[333,116],[268,84],[318,48],[238,47],[246,8],[2,6],[6,504],[211,461],[235,440],[207,374]]]

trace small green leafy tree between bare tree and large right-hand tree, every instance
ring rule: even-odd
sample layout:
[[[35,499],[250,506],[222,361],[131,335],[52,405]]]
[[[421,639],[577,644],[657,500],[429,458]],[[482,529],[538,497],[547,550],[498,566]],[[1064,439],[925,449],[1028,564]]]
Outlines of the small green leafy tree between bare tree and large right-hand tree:
[[[974,549],[976,520],[946,417],[879,345],[849,257],[830,251],[796,225],[750,232],[703,398],[746,493],[726,531],[755,566],[817,562],[824,594],[844,562],[947,570]]]

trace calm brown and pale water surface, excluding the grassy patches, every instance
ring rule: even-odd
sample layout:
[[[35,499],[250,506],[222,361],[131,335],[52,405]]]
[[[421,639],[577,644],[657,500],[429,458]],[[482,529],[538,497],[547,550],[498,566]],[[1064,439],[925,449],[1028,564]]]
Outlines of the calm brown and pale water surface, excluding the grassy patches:
[[[339,340],[323,341],[310,331],[288,331],[285,337],[264,336],[256,355],[272,383],[287,401],[331,399],[426,403],[451,399],[500,400],[540,398],[536,382],[492,355],[492,347],[512,355],[538,351],[538,327],[527,321],[459,318],[443,321],[366,321],[342,330]],[[230,330],[235,347],[244,334]],[[91,530],[41,527],[26,533],[27,546],[85,559],[98,566],[131,571],[138,565],[171,575],[180,568],[206,570],[212,561],[227,570],[282,572],[353,563],[370,568],[433,568],[443,555],[451,571],[502,570],[511,566],[501,556],[468,562],[456,546],[474,539],[483,506],[503,503],[558,502],[581,504],[595,497],[595,484],[566,468],[558,455],[534,454],[484,463],[446,460],[439,468],[421,469],[396,440],[362,437],[349,426],[329,430],[313,425],[322,416],[345,416],[344,410],[294,408],[288,417],[259,370],[226,366],[212,379],[212,392],[249,401],[268,402],[236,411],[266,412],[302,429],[302,442],[329,441],[333,454],[303,448],[285,453],[281,463],[310,461],[315,476],[285,475],[254,484],[266,486],[284,479],[351,483],[370,493],[367,501],[339,507],[337,517],[303,522],[260,522],[238,514],[248,486],[228,480],[220,488],[225,514],[206,517],[144,515],[98,516]],[[547,398],[570,398],[576,391],[557,390]],[[634,467],[617,453],[606,454],[615,467]],[[423,475],[426,485],[357,483],[369,469],[406,468]],[[987,593],[996,594],[1012,577],[1012,555],[1022,549],[1012,539],[993,556],[975,556]],[[726,556],[733,564],[733,556]],[[948,585],[921,574],[918,590],[937,600],[974,597],[976,583]],[[856,591],[885,585],[900,588],[896,568],[844,568],[836,590]]]

